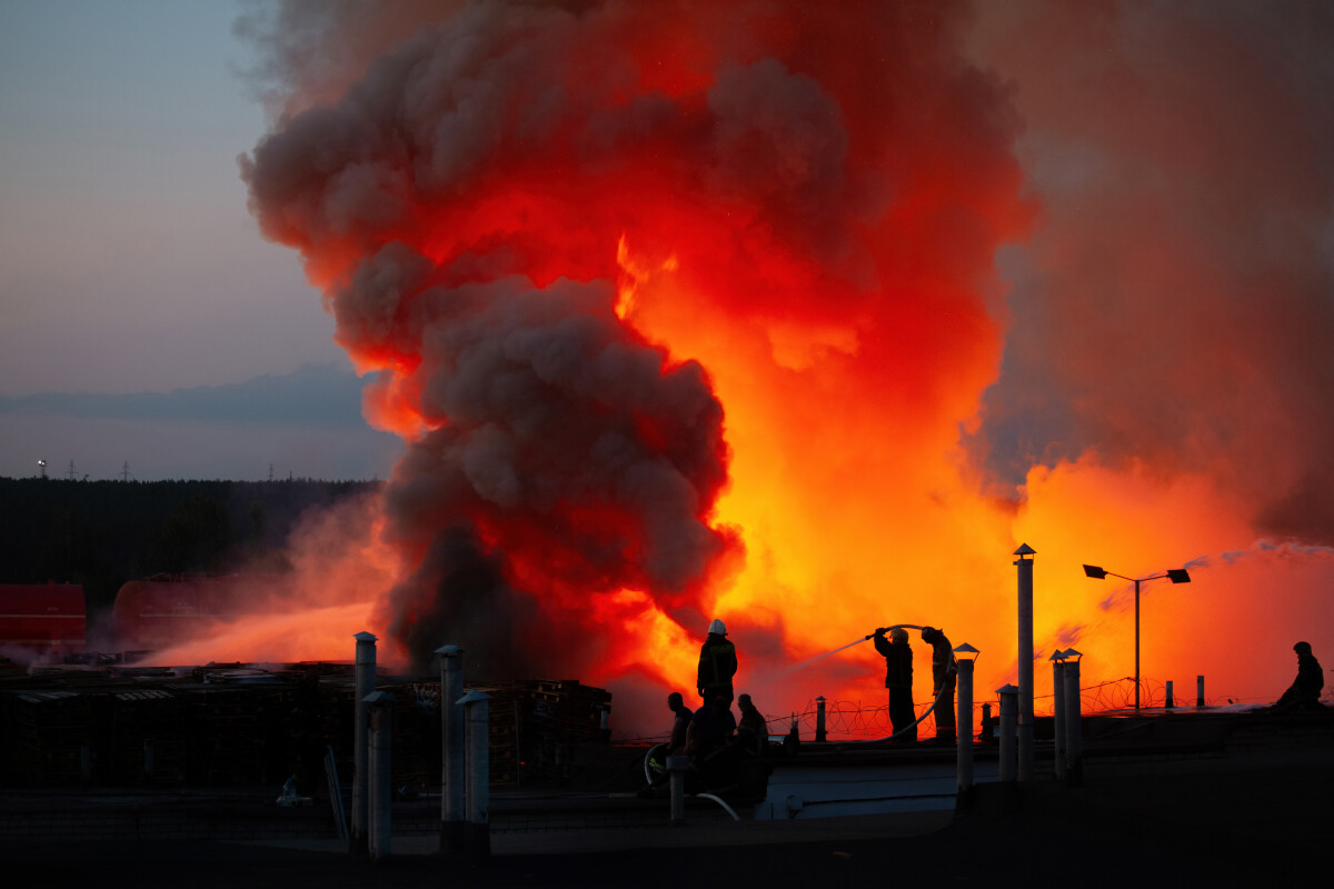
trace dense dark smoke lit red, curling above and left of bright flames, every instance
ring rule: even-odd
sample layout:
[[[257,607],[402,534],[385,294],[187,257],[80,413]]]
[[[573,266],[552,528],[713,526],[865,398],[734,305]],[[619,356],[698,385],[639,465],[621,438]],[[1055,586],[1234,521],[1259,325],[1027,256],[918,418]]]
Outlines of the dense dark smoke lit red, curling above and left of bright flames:
[[[412,566],[390,625],[419,660],[452,632],[520,672],[534,652],[583,669],[616,640],[599,598],[626,590],[698,632],[740,545],[711,521],[728,450],[708,376],[618,316],[652,269],[683,269],[692,299],[772,324],[775,357],[808,364],[778,355],[787,325],[834,325],[842,352],[902,336],[874,297],[880,249],[906,261],[886,225],[906,215],[964,240],[915,287],[984,324],[964,289],[994,240],[979,203],[991,167],[1017,179],[1000,152],[954,183],[924,143],[999,147],[1003,119],[947,53],[950,8],[858,12],[875,35],[860,45],[856,16],[802,5],[471,4],[411,33],[387,23],[403,39],[334,100],[323,72],[313,97],[293,84],[244,176],[339,343],[382,372],[370,416],[411,440],[386,540]],[[908,59],[923,39],[940,45]],[[911,163],[886,168],[891,152]],[[918,191],[923,209],[890,209]],[[887,351],[866,373],[931,376],[922,357]]]

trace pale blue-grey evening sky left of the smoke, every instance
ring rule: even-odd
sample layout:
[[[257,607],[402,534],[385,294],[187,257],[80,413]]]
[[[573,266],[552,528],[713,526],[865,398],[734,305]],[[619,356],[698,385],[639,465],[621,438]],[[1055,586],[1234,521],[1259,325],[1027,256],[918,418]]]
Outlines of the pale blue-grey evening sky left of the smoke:
[[[0,0],[0,400],[348,368],[236,157],[264,132],[231,0]],[[339,375],[342,377],[342,375]],[[308,379],[308,377],[303,377]],[[347,387],[348,383],[331,381]],[[351,385],[355,387],[355,383]],[[169,404],[169,403],[164,403]],[[355,405],[355,396],[350,403]],[[0,476],[384,477],[395,443],[273,417],[0,412]],[[56,470],[59,468],[59,472]]]

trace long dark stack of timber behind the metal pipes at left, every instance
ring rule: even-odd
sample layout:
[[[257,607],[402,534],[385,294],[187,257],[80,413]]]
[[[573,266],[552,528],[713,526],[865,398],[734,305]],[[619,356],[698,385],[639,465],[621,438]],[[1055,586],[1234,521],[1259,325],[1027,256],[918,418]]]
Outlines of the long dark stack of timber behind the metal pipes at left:
[[[311,673],[317,678],[313,704]],[[491,696],[494,785],[560,786],[570,781],[576,748],[608,744],[610,692],[574,680],[470,686]],[[376,689],[395,700],[395,789],[436,792],[440,684],[380,674]],[[312,725],[315,745],[332,748],[339,780],[351,786],[356,682],[350,664],[0,672],[0,786],[276,792],[309,756]],[[327,794],[323,770],[320,776],[299,792]]]

